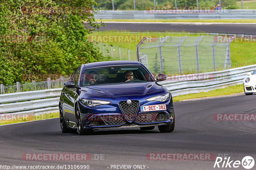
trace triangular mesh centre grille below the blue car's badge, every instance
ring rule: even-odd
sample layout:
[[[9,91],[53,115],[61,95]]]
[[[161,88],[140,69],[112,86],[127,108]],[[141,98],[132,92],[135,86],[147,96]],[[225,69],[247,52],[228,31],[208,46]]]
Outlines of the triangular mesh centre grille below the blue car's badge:
[[[139,107],[139,101],[138,100],[132,100],[131,104],[128,104],[125,101],[119,102],[119,106],[124,113],[124,116],[128,121],[132,121],[132,119],[135,117],[138,107]]]

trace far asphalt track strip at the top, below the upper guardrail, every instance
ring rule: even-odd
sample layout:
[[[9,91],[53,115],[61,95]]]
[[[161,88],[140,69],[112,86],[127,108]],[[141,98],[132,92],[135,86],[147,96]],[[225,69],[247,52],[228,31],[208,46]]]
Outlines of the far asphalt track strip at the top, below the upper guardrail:
[[[230,34],[256,34],[255,23],[139,23],[105,22],[99,30],[156,31],[156,32],[213,32]]]

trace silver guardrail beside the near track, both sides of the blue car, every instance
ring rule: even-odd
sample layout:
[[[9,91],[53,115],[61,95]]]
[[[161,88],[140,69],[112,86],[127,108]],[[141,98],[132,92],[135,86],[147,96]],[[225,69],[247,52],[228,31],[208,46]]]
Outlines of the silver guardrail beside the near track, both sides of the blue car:
[[[188,77],[191,75],[193,76],[193,74],[187,74],[174,76],[175,79],[179,79],[176,81],[172,80],[173,77],[168,77],[167,81],[159,83],[166,87],[168,90],[170,90],[172,96],[199,93],[202,91],[210,91],[213,89],[241,84],[243,83],[243,79],[247,75],[247,72],[253,71],[255,67],[256,64],[222,71],[195,74],[196,76],[207,75],[206,80],[205,76],[198,76],[198,79],[196,81],[182,80],[182,78],[184,77]],[[61,88],[58,88],[2,94],[0,95],[0,102],[3,104],[0,104],[0,113],[10,113],[10,115],[36,115],[50,112],[58,112],[58,101],[61,90]]]

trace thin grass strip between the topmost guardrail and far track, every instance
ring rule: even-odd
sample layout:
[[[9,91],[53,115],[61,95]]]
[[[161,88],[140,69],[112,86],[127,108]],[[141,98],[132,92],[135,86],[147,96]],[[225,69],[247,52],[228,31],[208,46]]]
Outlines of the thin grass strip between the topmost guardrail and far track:
[[[256,3],[256,2],[254,2]],[[243,3],[244,4],[244,3]],[[241,3],[240,3],[241,6]],[[244,9],[246,7],[244,6]],[[256,9],[256,8],[254,8]],[[96,21],[119,21],[119,22],[227,22],[227,23],[256,23],[256,19],[96,19]]]

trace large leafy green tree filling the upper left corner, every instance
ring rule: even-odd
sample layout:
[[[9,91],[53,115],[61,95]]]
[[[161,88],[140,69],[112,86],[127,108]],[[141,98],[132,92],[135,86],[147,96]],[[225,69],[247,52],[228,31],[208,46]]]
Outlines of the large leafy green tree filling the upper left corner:
[[[103,60],[86,37],[101,26],[92,5],[94,0],[2,1],[0,83],[22,81],[23,74],[71,74],[82,63]]]

